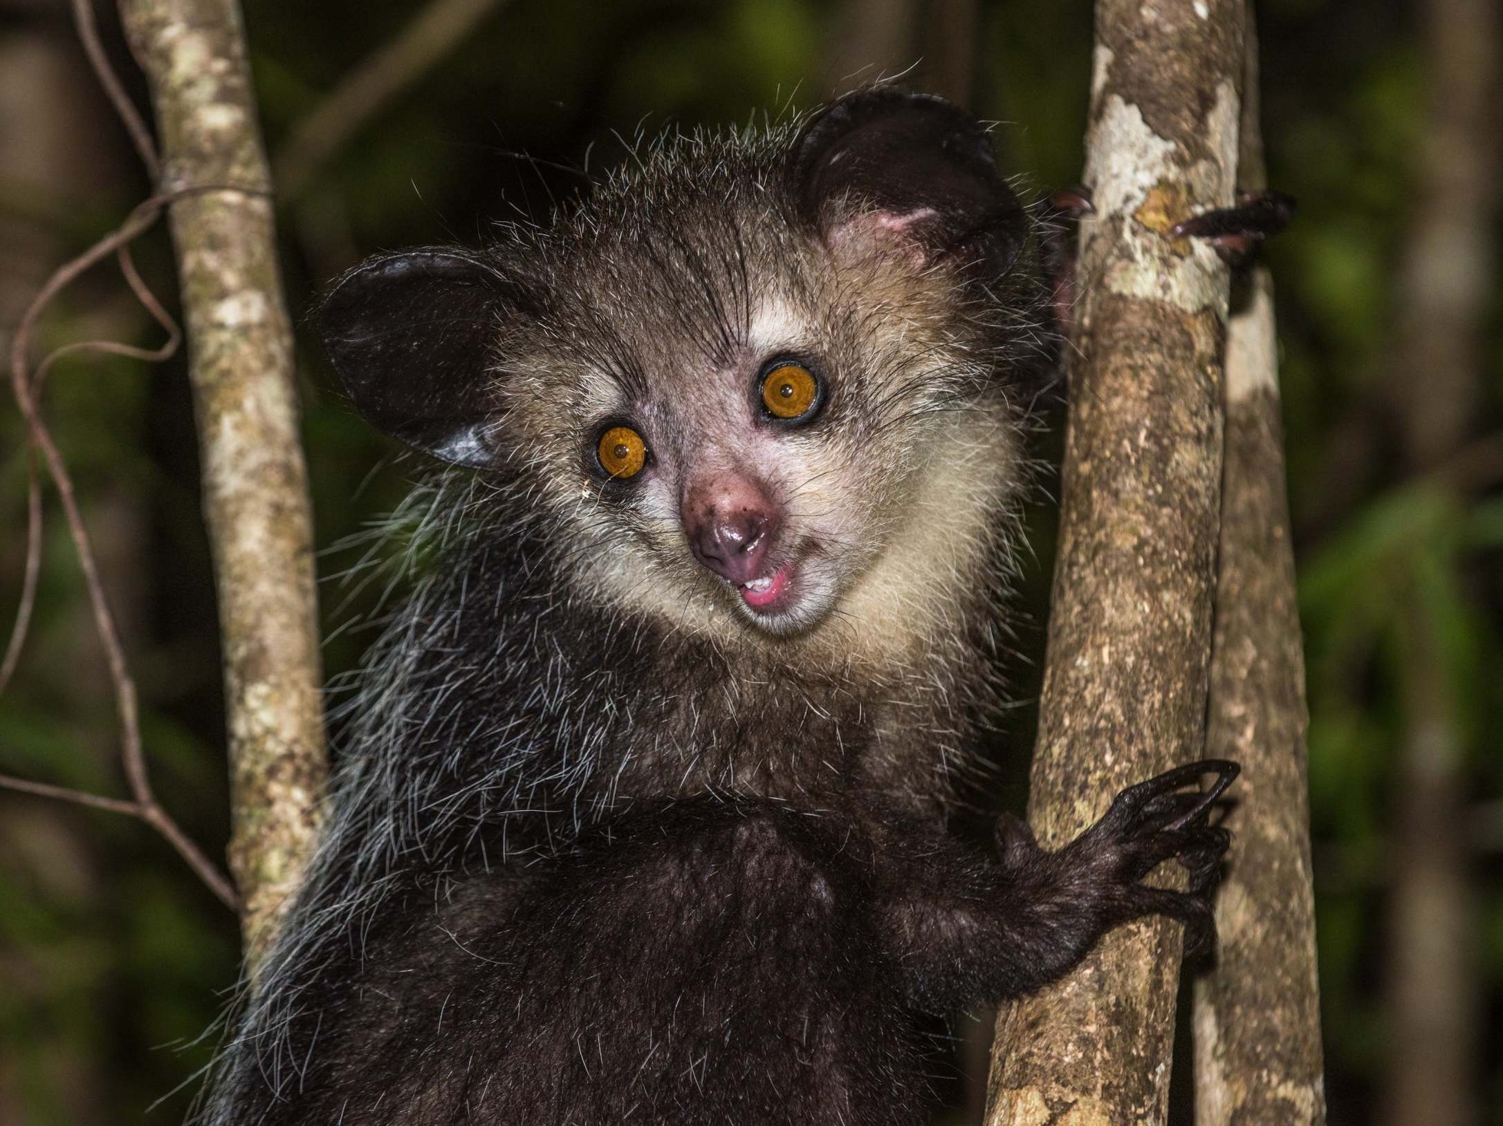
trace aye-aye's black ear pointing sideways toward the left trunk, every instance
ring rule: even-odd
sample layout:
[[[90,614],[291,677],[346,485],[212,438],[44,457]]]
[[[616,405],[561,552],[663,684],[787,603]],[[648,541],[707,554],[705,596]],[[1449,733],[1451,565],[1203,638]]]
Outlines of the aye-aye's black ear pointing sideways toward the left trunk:
[[[407,251],[361,263],[323,300],[323,347],[377,429],[460,465],[493,465],[490,374],[507,285],[476,255]]]

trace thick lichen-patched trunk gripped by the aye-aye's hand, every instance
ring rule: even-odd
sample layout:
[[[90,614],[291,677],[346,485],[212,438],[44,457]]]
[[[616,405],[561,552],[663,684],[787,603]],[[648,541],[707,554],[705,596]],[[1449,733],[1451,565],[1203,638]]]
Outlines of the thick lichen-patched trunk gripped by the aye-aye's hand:
[[[1099,0],[1060,558],[1030,817],[1058,847],[1204,752],[1226,269],[1163,237],[1232,201],[1240,3]],[[1169,878],[1166,875],[1166,878]],[[1153,919],[1006,1009],[992,1126],[1163,1120],[1181,935]]]

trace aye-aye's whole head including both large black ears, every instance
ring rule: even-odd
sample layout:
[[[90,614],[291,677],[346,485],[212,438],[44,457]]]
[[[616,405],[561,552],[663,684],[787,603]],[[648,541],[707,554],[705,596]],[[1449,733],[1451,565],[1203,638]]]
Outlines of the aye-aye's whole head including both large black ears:
[[[546,230],[323,308],[380,429],[511,482],[577,590],[758,644],[902,646],[995,554],[1049,348],[984,129],[864,90],[676,138]]]

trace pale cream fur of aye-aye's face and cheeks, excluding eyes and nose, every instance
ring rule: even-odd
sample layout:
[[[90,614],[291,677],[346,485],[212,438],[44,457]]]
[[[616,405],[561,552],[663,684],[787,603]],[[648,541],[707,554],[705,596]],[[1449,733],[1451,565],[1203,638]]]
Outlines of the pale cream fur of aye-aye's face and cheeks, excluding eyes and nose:
[[[636,398],[583,371],[546,380],[570,386],[567,401],[517,405],[549,431],[543,441],[558,443],[559,471],[547,479],[576,482],[571,522],[597,545],[582,552],[579,575],[594,596],[724,647],[911,667],[957,620],[957,602],[974,596],[1010,527],[1018,437],[999,401],[935,401],[930,389],[953,386],[947,369],[969,362],[936,332],[944,278],[915,276],[911,255],[852,240],[810,258],[800,284],[765,279],[729,363],[649,371]],[[849,309],[852,294],[864,308]],[[839,326],[831,308],[842,308]],[[842,330],[860,335],[821,371],[831,417],[791,429],[759,416],[765,363],[818,360]],[[559,425],[561,410],[571,425]],[[604,419],[630,422],[652,450],[625,486],[628,501],[607,495],[577,449]],[[779,506],[773,565],[794,563],[782,613],[758,614],[693,557],[679,506],[703,473],[745,474]]]

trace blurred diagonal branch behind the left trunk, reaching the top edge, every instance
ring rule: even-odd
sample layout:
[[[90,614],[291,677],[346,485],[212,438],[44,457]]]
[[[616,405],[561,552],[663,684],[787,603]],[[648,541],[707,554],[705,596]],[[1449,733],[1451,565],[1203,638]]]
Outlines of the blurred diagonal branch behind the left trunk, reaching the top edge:
[[[436,0],[401,35],[346,75],[272,161],[283,200],[302,195],[329,158],[504,3],[507,0]]]

